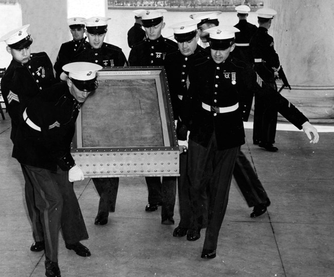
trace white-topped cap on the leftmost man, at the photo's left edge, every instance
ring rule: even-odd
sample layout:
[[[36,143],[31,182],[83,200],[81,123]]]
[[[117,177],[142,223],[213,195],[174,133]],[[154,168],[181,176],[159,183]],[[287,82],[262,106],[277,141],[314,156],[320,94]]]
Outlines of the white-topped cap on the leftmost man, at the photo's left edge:
[[[0,42],[4,41],[13,49],[23,49],[28,47],[32,43],[30,34],[27,32],[29,26],[30,24],[27,24],[8,32],[0,38]]]

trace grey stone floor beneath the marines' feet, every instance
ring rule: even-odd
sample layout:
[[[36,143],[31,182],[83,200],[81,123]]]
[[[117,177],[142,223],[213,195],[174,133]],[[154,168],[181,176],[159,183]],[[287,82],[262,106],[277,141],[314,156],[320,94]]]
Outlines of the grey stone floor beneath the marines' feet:
[[[31,226],[24,200],[23,176],[11,158],[10,120],[0,122],[0,276],[44,276],[44,252],[31,252]],[[295,130],[295,129],[294,129]],[[67,250],[60,238],[62,276],[333,276],[334,184],[331,131],[310,145],[302,132],[277,131],[277,153],[251,143],[252,159],[271,200],[268,212],[250,218],[233,181],[220,230],[217,257],[203,260],[203,237],[188,242],[172,236],[177,226],[160,224],[147,213],[144,178],[121,178],[115,213],[95,226],[98,194],[90,179],[75,188],[85,217],[90,257]],[[175,207],[178,223],[178,206]],[[203,233],[203,231],[202,231]]]

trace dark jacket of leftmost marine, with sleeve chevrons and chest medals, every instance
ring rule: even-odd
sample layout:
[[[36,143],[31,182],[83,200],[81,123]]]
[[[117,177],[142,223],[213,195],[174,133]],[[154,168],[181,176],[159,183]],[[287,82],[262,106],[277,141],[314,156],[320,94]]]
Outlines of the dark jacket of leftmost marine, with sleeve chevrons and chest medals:
[[[30,100],[54,82],[52,63],[45,52],[32,53],[26,64],[11,61],[1,80],[1,90],[11,118],[12,141]]]

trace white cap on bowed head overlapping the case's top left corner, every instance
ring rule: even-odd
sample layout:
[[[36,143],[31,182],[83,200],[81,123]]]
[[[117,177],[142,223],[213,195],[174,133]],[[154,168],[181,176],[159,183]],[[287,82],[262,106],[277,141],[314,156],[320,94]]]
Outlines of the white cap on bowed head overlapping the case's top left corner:
[[[68,77],[83,91],[92,91],[98,87],[97,72],[102,69],[101,65],[87,62],[75,62],[65,64],[62,69],[68,72]]]

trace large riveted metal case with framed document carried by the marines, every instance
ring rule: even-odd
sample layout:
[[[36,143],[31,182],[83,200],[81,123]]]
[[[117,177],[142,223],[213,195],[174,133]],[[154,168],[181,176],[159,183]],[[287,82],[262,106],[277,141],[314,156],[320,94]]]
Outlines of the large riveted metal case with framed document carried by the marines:
[[[99,71],[71,152],[85,176],[178,176],[179,148],[163,67]]]

